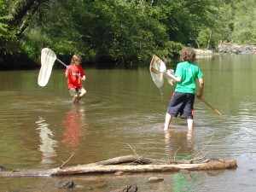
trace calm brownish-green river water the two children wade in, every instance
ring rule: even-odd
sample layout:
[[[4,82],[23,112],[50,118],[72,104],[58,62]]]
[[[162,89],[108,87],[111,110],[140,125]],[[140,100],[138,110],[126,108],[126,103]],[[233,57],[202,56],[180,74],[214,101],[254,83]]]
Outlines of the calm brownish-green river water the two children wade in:
[[[123,176],[1,178],[0,191],[111,191],[137,184],[138,191],[253,191],[256,189],[256,55],[215,55],[196,61],[204,73],[204,99],[195,101],[195,129],[173,119],[162,130],[174,87],[158,89],[146,67],[84,67],[87,95],[73,105],[64,69],[53,69],[40,87],[38,70],[0,72],[0,165],[7,171],[76,166],[128,154],[154,159],[206,155],[237,160],[214,172],[141,173]],[[167,68],[175,68],[171,63]],[[70,158],[71,157],[71,158]],[[70,160],[69,160],[70,158]],[[148,183],[149,177],[164,177]]]

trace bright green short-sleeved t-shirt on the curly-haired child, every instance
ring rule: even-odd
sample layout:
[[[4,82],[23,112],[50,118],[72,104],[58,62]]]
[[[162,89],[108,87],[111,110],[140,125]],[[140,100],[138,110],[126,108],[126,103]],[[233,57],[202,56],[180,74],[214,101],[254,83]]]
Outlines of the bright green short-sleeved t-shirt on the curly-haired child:
[[[203,74],[195,64],[184,61],[177,64],[175,76],[182,78],[181,82],[177,82],[175,91],[195,94],[195,80],[201,79]]]

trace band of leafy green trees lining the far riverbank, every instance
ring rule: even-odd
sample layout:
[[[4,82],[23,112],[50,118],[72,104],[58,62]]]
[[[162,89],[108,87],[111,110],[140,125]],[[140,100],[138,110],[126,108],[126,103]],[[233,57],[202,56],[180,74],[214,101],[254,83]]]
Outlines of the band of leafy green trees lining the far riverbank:
[[[183,45],[256,44],[254,0],[0,0],[0,62],[44,47],[84,61],[131,63]]]

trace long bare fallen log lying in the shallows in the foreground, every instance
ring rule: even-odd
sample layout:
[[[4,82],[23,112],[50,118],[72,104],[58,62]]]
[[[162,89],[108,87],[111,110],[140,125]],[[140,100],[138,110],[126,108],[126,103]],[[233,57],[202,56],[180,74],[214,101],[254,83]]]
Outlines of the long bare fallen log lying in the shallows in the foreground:
[[[137,158],[135,158],[137,157]],[[149,165],[112,165],[120,162],[139,162]],[[218,159],[210,159],[218,160]],[[79,165],[79,166],[67,166],[57,167],[52,169],[32,169],[32,170],[14,170],[11,172],[0,172],[0,177],[49,177],[49,176],[70,176],[81,175],[91,173],[115,173],[115,172],[177,172],[180,170],[189,171],[204,171],[204,170],[218,170],[218,169],[230,169],[236,167],[236,160],[218,160],[214,162],[195,163],[195,164],[170,164],[170,160],[164,161],[152,160],[147,158],[141,158],[138,156],[128,155],[111,160],[101,161],[94,164]],[[160,164],[162,162],[162,164]],[[189,162],[189,161],[188,161]],[[103,165],[101,165],[103,164]]]

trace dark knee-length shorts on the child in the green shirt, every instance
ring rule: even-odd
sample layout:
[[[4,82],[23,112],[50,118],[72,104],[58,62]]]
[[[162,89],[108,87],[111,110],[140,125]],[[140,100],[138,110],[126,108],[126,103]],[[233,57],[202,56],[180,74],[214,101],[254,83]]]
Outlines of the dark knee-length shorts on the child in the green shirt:
[[[183,119],[193,119],[194,101],[195,94],[174,92],[166,113],[175,117],[179,114]]]

